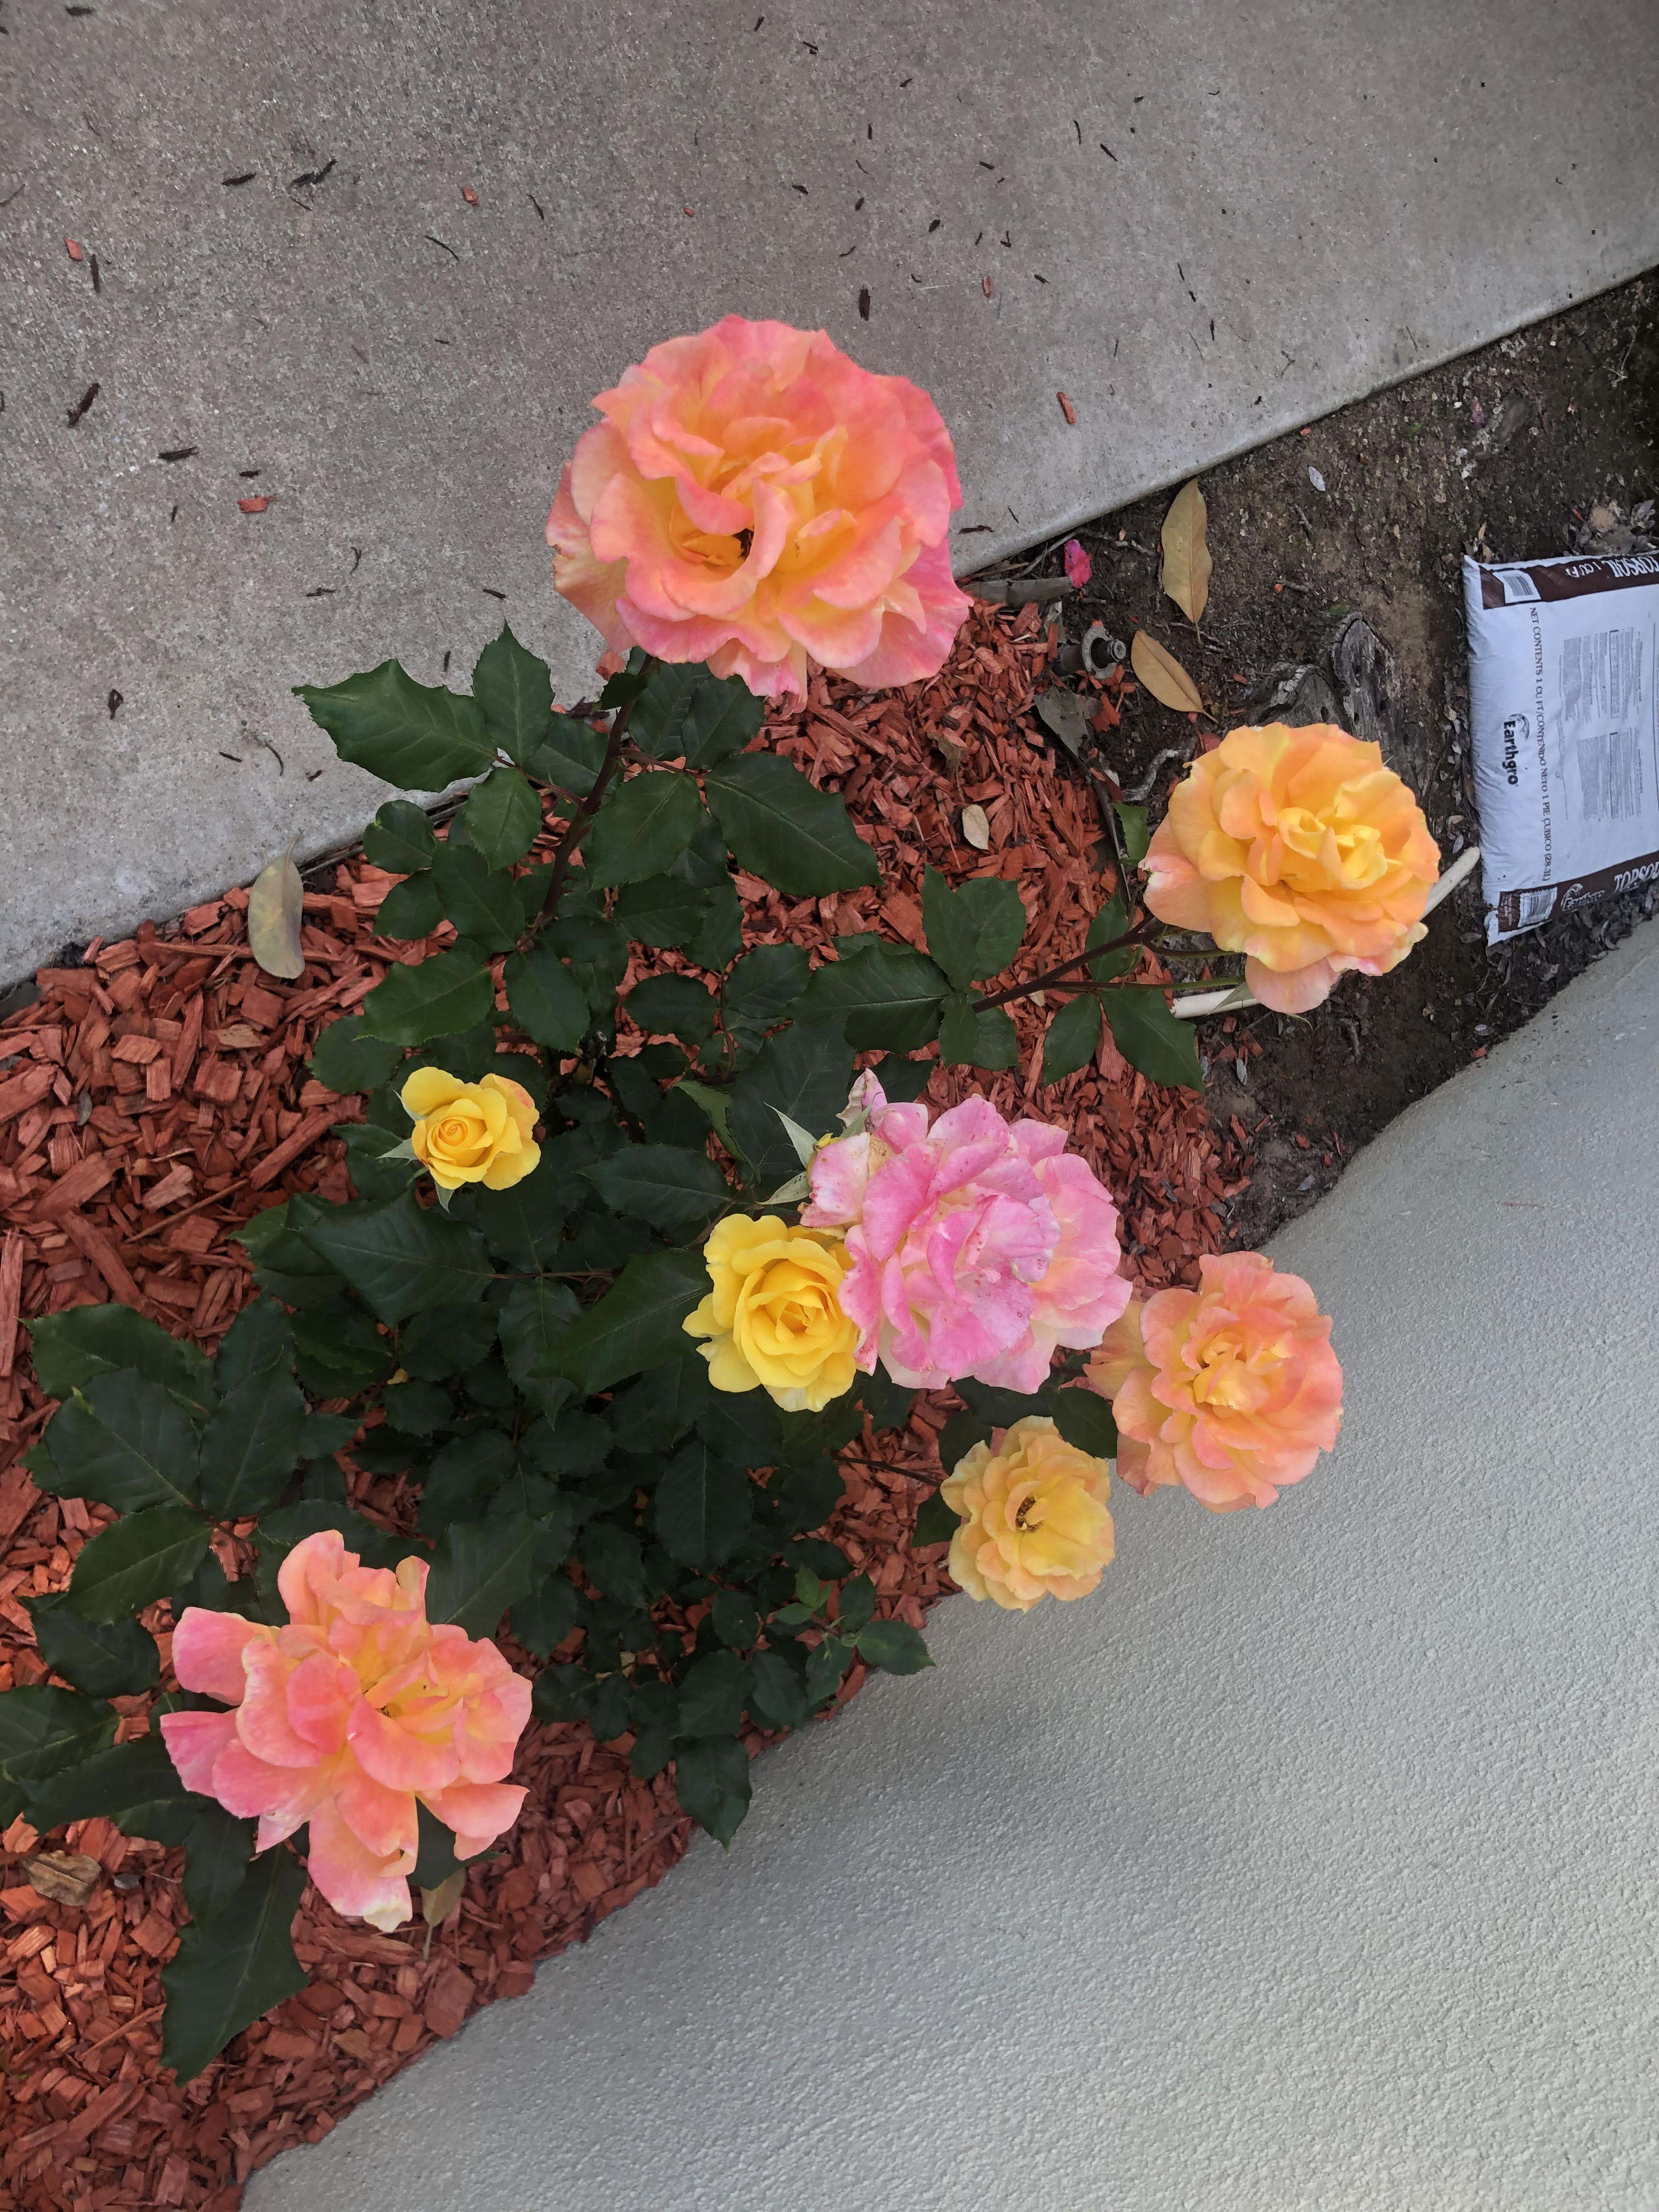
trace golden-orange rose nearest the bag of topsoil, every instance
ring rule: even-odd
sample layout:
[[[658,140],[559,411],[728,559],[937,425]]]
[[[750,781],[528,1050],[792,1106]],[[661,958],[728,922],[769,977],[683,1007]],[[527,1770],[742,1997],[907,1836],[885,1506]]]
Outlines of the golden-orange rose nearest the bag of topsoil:
[[[1305,1013],[1343,969],[1387,975],[1425,936],[1440,847],[1380,745],[1270,723],[1188,768],[1146,867],[1159,920],[1245,953],[1261,1004]]]

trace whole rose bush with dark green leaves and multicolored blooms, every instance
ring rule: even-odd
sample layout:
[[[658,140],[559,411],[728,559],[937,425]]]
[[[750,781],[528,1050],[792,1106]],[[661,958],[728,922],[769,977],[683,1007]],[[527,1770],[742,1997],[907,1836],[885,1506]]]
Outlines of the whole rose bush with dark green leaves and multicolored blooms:
[[[378,931],[440,949],[312,1055],[363,1095],[356,1197],[246,1223],[261,1294],[212,1358],[124,1307],[31,1325],[60,1400],[33,1478],[115,1520],[35,1599],[55,1679],[0,1694],[0,1825],[104,1814],[184,1847],[181,2077],[303,1984],[305,1869],[380,1927],[411,1885],[429,1922],[453,1907],[518,1814],[526,1703],[626,1736],[730,1843],[757,1732],[827,1710],[854,1663],[927,1666],[832,1535],[841,1449],[902,1429],[918,1387],[960,1409],[916,1542],[951,1540],[1011,1610],[1099,1582],[1113,1455],[1225,1509],[1336,1433],[1305,1285],[1234,1256],[1141,1310],[1062,1128],[920,1104],[938,1064],[1011,1066],[1004,1006],[1040,989],[1071,998],[1037,1082],[1102,1024],[1150,1082],[1201,1079],[1137,973],[1126,880],[1079,953],[1000,989],[1026,936],[1002,878],[929,867],[922,942],[843,936],[816,967],[743,947],[737,872],[792,898],[876,883],[841,799],[765,750],[757,695],[799,692],[812,657],[867,684],[940,666],[967,602],[931,403],[823,334],[728,319],[602,409],[551,524],[560,586],[628,648],[595,703],[555,710],[509,628],[469,695],[398,661],[299,686],[343,759],[405,792],[471,781],[445,836],[405,799],[365,832],[394,878]],[[1239,914],[1290,931],[1252,938],[1279,975],[1398,956],[1431,849],[1352,741],[1279,739],[1197,765],[1194,858],[1170,832],[1155,885],[1197,914],[1194,885],[1248,876]],[[179,1688],[137,1736],[168,1621]]]

